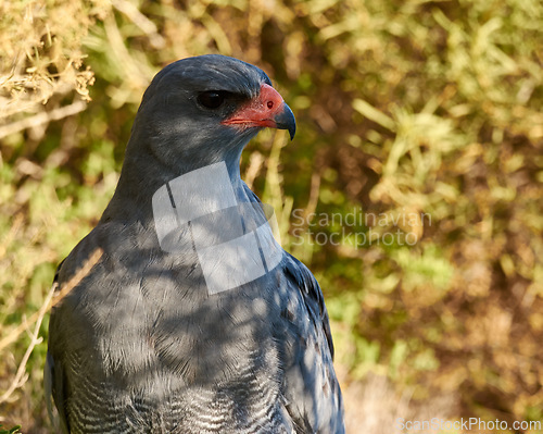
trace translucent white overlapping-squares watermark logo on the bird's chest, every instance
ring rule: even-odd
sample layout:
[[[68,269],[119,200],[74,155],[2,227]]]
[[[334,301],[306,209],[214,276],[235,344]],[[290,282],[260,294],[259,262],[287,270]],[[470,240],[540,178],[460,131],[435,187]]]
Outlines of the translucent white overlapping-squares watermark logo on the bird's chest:
[[[282,257],[273,208],[238,203],[225,162],[166,183],[152,204],[161,248],[195,251],[210,295],[263,276]]]

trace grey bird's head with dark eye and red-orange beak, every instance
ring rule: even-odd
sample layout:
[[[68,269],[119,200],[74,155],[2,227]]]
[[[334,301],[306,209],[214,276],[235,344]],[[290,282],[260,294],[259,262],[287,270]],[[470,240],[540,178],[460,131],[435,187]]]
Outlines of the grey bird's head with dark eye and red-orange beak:
[[[262,70],[216,54],[179,60],[143,95],[125,165],[153,158],[174,176],[218,161],[236,166],[263,127],[288,129],[291,138],[295,132],[292,111]]]

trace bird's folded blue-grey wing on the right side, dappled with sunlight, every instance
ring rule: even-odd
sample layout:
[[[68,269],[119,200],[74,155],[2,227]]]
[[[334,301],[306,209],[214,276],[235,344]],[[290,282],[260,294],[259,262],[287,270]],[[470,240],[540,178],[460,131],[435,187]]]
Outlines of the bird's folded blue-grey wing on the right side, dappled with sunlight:
[[[333,370],[333,345],[320,287],[311,271],[286,253],[283,273],[292,298],[283,312],[289,335],[285,398],[300,433],[344,433],[343,402]]]

